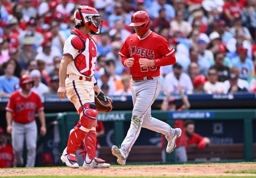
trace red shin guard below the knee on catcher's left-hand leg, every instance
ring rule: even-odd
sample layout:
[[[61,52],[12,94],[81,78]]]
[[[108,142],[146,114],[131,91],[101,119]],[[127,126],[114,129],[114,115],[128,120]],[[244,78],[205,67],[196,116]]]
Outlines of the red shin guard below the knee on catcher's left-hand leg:
[[[76,128],[68,137],[67,153],[75,154],[88,132]]]

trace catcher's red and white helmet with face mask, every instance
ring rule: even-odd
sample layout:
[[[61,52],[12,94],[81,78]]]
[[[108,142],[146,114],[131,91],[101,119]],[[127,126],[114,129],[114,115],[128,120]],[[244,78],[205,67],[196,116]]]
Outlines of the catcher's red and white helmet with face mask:
[[[92,17],[95,17],[95,19],[93,20]],[[95,8],[88,5],[79,5],[74,13],[75,27],[79,28],[80,26],[86,25],[92,29],[92,34],[99,35],[103,22],[102,20],[98,20],[99,17],[101,17],[101,15]]]

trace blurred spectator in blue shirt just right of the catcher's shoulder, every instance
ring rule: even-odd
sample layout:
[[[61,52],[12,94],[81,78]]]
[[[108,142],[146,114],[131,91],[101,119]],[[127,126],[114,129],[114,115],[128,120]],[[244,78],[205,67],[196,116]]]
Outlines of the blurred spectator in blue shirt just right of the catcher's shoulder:
[[[111,44],[109,40],[108,32],[100,34],[100,40],[97,42],[97,56],[106,56],[111,51]]]

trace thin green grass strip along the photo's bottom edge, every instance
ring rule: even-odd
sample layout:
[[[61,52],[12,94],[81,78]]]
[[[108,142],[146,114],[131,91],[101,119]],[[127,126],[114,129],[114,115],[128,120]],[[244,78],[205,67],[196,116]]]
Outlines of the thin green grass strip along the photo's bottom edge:
[[[36,178],[110,178],[107,176],[84,176],[84,175],[74,175],[74,176],[44,176],[44,175],[37,175]],[[222,178],[234,178],[234,176],[221,176]],[[7,177],[1,177],[1,178],[7,178]],[[10,178],[10,177],[8,177]],[[11,177],[11,178],[35,178],[35,176],[15,176],[15,177]],[[124,178],[124,177],[114,177],[114,178]],[[148,177],[142,177],[142,176],[138,176],[138,177],[127,177],[127,178],[148,178]],[[152,177],[152,178],[181,178],[181,177]],[[186,177],[186,178],[216,178],[213,176],[192,176],[192,177]],[[244,176],[236,176],[236,178],[244,178]],[[256,176],[251,176],[250,178],[256,178]]]

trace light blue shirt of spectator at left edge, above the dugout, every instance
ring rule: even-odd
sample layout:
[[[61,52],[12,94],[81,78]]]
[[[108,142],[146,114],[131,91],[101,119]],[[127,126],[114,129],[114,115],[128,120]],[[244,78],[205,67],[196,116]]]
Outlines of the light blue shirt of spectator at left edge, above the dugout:
[[[11,79],[7,79],[4,75],[0,76],[0,91],[5,93],[13,93],[20,88],[20,79],[12,76]]]

